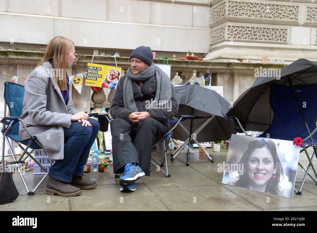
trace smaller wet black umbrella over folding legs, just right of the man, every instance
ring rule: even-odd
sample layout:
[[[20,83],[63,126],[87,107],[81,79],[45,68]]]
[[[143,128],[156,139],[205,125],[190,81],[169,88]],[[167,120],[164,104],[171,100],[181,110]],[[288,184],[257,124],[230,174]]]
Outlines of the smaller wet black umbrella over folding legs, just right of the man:
[[[175,91],[179,103],[177,115],[195,116],[191,121],[184,121],[183,123],[189,134],[191,135],[202,128],[193,139],[196,143],[230,139],[231,134],[234,133],[234,122],[225,118],[226,112],[230,109],[230,103],[227,100],[217,92],[199,85],[179,86],[175,87]],[[206,123],[208,118],[212,119]],[[186,141],[188,135],[184,133],[184,129],[177,127],[173,130],[173,138]],[[189,138],[190,144],[192,139]],[[172,161],[179,151],[177,150],[171,154]],[[207,152],[205,153],[210,157]],[[213,162],[211,157],[210,160]],[[189,151],[186,165],[189,165]]]

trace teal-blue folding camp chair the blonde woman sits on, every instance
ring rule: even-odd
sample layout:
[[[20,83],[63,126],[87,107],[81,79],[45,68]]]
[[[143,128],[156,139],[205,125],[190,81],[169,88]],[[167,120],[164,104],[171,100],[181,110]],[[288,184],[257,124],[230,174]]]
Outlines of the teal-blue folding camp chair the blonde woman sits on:
[[[44,149],[44,147],[41,145],[41,143],[28,131],[27,127],[25,126],[23,120],[20,118],[21,114],[22,114],[22,109],[23,109],[23,98],[24,98],[24,86],[16,84],[16,83],[12,83],[12,82],[5,82],[4,83],[4,117],[3,119],[0,121],[3,126],[2,126],[2,134],[3,134],[3,142],[2,142],[2,164],[4,164],[4,146],[5,146],[5,142],[7,142],[11,154],[13,156],[14,161],[20,161],[23,159],[23,156],[25,154],[27,154],[28,156],[26,156],[22,161],[25,161],[25,159],[27,159],[28,157],[30,159],[33,159],[34,162],[39,165],[44,171],[46,171],[46,169],[31,155],[31,153],[34,151],[34,149]],[[10,113],[10,117],[6,116],[6,108],[7,105],[9,106],[9,113]],[[23,127],[25,128],[26,132],[29,134],[30,138],[26,139],[26,140],[21,140],[20,136],[19,136],[19,125],[20,123],[23,125]],[[19,142],[23,145],[26,145],[25,148],[23,148],[23,146],[21,146],[20,144],[18,145],[23,153],[20,156],[19,159],[16,158],[14,151],[10,145],[10,141],[9,139],[12,139],[16,142]],[[36,143],[34,143],[36,142]],[[27,150],[31,148],[32,151],[28,152]],[[51,165],[52,165],[52,160],[51,160]],[[20,169],[18,169],[18,172],[22,178],[24,187],[28,193],[28,195],[34,195],[36,189],[40,186],[40,184],[42,184],[42,182],[45,180],[45,178],[48,175],[48,172],[46,171],[45,176],[40,180],[40,182],[36,185],[36,187],[33,189],[33,191],[29,191],[29,188],[25,182],[25,179],[23,177],[23,174],[21,172]]]

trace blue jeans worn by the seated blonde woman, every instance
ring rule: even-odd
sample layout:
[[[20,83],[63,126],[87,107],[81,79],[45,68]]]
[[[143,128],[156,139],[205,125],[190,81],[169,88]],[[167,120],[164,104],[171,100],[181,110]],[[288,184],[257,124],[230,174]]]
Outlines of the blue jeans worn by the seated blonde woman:
[[[92,126],[72,121],[69,129],[64,127],[64,159],[52,165],[50,177],[70,183],[73,175],[84,176],[84,166],[100,128],[97,120],[88,118],[88,121]]]

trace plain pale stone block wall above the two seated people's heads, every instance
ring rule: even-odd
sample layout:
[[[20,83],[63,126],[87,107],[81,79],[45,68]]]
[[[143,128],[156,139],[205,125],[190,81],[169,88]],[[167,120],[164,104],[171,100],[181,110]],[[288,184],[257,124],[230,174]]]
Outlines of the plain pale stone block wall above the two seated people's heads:
[[[0,0],[0,42],[45,45],[66,36],[78,48],[204,54],[209,1]]]

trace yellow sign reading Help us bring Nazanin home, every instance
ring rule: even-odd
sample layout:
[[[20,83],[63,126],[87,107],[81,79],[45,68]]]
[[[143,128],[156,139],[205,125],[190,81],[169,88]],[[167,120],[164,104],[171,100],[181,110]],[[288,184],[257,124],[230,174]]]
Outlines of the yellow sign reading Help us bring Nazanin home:
[[[88,63],[85,85],[115,89],[120,75],[120,67]]]

